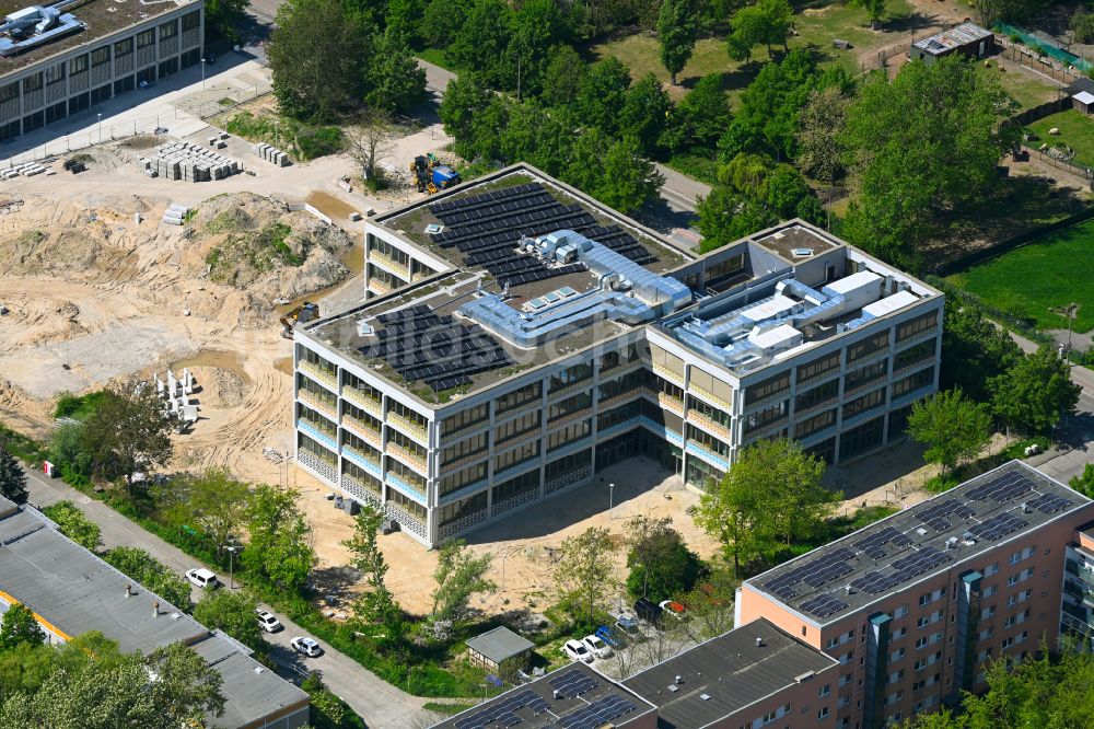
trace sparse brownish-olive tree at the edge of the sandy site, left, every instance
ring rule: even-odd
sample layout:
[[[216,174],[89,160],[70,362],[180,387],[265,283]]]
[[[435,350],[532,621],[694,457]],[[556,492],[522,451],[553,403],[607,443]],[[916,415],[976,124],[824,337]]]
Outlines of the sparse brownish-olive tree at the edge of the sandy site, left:
[[[138,378],[112,384],[84,424],[83,450],[94,473],[125,478],[133,496],[138,472],[149,472],[171,461],[172,421],[155,389]]]

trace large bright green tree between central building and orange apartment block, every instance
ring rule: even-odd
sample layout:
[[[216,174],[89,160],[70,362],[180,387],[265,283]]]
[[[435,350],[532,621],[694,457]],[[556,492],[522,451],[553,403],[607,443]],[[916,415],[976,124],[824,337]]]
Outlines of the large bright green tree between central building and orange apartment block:
[[[740,577],[752,559],[823,530],[842,498],[822,485],[823,476],[824,462],[798,443],[758,441],[702,495],[695,521],[719,539]]]

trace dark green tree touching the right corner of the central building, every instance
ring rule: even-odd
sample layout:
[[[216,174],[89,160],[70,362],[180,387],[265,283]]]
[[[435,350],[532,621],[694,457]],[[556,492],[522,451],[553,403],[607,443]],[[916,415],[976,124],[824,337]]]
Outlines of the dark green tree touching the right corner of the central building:
[[[1005,329],[996,326],[977,306],[946,297],[942,329],[940,386],[959,389],[970,400],[991,398],[988,383],[1022,358],[1022,349]]]

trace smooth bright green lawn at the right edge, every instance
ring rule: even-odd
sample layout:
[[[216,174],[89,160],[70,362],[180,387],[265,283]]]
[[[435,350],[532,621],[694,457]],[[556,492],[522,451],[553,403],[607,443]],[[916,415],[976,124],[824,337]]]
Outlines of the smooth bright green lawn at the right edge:
[[[1080,304],[1075,332],[1094,328],[1094,277],[1085,262],[1094,252],[1094,221],[986,261],[948,277],[1002,311],[1028,317],[1040,329],[1066,329],[1068,321],[1049,312]]]

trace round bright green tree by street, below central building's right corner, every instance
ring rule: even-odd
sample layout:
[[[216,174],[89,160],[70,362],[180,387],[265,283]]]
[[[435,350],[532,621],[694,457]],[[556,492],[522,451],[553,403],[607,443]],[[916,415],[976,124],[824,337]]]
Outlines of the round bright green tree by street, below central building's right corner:
[[[991,442],[991,414],[961,390],[944,390],[911,406],[908,435],[927,445],[923,459],[941,465],[945,476]]]

